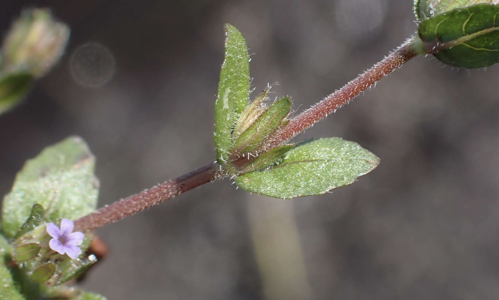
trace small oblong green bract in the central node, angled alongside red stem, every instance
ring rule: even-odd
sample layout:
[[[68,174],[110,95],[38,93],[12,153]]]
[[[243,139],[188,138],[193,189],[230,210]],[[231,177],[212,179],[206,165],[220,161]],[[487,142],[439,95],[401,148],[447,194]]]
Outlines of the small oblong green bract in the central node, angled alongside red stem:
[[[263,144],[263,142],[279,127],[282,120],[289,113],[291,100],[288,97],[279,99],[272,103],[253,124],[248,127],[235,142],[234,153],[251,152]]]

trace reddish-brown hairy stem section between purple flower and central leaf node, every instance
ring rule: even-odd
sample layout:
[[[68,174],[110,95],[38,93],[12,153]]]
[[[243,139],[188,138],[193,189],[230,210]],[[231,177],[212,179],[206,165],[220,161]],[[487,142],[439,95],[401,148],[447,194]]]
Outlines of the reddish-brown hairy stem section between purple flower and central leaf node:
[[[221,166],[209,163],[190,173],[104,206],[74,221],[75,231],[86,232],[116,222],[181,193],[226,176]]]

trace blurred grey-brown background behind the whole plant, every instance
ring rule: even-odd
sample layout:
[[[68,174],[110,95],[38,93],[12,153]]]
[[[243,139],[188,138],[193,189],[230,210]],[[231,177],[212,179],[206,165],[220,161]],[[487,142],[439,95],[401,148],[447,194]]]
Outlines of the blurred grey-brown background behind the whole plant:
[[[100,205],[215,159],[224,23],[252,86],[299,111],[415,30],[411,0],[2,0],[71,28],[66,54],[0,116],[0,194],[68,135],[97,157]],[[499,66],[418,57],[295,140],[340,136],[381,158],[323,196],[277,200],[229,180],[100,228],[110,254],[83,283],[108,299],[497,299]],[[252,97],[256,97],[253,93]]]

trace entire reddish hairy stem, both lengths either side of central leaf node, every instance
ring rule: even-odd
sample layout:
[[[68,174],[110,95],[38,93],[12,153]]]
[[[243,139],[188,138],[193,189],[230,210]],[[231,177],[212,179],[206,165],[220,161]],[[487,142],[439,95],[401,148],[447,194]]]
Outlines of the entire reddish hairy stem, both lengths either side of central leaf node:
[[[418,41],[419,39],[417,38],[408,39],[371,69],[365,71],[340,90],[292,118],[282,131],[278,133],[268,149],[275,148],[296,136],[315,122],[348,103],[391,72],[400,68],[411,58],[416,57],[422,52],[416,50],[416,47],[420,46],[417,45]],[[219,164],[210,163],[174,180],[116,201],[109,206],[98,209],[96,212],[81,217],[74,222],[75,230],[85,232],[116,222],[126,216],[135,214],[206,183],[224,178],[227,175]]]

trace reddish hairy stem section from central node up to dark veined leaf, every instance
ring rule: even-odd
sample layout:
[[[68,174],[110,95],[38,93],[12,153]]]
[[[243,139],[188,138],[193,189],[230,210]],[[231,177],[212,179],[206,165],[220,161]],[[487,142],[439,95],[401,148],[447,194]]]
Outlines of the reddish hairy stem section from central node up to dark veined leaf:
[[[280,131],[275,139],[265,147],[271,149],[286,142],[298,133],[312,126],[331,112],[335,112],[344,104],[354,99],[361,92],[383,79],[385,76],[400,68],[404,63],[421,52],[416,51],[419,39],[410,38],[395,51],[386,56],[371,69],[347,83],[343,88],[317,102],[309,109],[290,119],[289,123]]]

